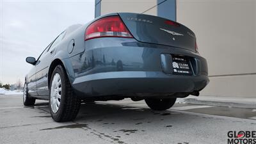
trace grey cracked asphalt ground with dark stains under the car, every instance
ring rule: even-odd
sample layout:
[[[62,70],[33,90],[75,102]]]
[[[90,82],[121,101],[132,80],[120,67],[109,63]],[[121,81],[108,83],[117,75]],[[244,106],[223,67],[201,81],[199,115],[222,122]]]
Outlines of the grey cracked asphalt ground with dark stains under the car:
[[[54,122],[48,102],[24,108],[0,95],[0,143],[227,143],[228,131],[255,131],[256,109],[175,104],[152,111],[144,101],[82,104],[76,120]]]

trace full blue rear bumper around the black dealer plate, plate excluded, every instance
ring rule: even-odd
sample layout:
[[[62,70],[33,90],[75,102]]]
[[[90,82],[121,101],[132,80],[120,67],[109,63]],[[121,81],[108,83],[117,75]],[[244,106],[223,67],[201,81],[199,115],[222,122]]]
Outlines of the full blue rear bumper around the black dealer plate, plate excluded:
[[[74,72],[70,82],[81,97],[191,93],[209,83],[206,60],[186,49],[132,38],[95,38],[85,45],[86,51],[69,59]],[[173,54],[189,58],[192,76],[173,74]]]

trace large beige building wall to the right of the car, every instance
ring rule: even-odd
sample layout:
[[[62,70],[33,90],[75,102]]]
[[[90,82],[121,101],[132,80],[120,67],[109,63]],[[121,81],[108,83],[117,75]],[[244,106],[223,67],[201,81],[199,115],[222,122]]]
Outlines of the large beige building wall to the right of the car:
[[[256,1],[177,0],[177,21],[208,61],[202,95],[256,97]]]

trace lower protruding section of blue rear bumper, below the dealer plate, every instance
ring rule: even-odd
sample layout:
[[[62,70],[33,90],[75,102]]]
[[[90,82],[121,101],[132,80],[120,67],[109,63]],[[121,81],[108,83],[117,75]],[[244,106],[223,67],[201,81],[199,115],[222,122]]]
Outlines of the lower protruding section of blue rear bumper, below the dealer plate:
[[[102,95],[173,94],[202,90],[207,76],[167,75],[163,72],[104,72],[77,78],[73,86],[80,97]]]

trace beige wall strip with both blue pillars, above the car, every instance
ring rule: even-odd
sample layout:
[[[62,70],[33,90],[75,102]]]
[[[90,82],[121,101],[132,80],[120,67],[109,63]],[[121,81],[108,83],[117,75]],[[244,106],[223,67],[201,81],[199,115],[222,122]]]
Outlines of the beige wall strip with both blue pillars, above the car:
[[[176,20],[175,0],[95,0],[95,17],[108,13],[132,12]]]

